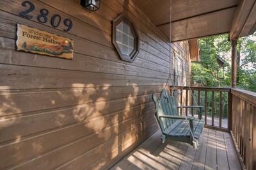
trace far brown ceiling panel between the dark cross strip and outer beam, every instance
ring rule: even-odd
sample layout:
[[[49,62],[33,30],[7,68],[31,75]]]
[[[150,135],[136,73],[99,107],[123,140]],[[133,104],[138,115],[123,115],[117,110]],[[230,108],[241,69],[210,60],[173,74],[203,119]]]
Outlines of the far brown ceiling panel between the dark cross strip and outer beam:
[[[228,33],[236,8],[172,22],[172,42]]]

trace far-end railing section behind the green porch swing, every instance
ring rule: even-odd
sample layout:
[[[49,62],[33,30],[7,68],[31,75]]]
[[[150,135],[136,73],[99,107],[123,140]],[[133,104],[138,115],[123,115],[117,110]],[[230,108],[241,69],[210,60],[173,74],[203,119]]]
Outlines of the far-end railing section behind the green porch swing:
[[[231,116],[231,89],[230,88],[204,88],[204,87],[170,87],[170,91],[177,89],[180,93],[180,105],[202,105],[205,127],[221,130],[230,129]],[[194,116],[195,110],[180,109],[180,114]]]

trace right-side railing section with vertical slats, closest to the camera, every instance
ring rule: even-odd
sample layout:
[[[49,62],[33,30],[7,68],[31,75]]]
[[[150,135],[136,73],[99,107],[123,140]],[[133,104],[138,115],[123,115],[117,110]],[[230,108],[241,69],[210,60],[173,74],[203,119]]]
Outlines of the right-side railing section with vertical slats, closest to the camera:
[[[256,169],[256,93],[232,89],[231,134],[246,169]]]

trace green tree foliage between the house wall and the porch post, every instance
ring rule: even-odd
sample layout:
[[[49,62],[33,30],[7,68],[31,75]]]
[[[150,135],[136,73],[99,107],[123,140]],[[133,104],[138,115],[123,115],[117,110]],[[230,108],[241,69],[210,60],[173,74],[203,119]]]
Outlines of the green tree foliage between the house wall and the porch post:
[[[218,43],[216,44],[216,42]],[[200,63],[192,63],[191,71],[194,83],[201,81],[202,86],[230,86],[230,66],[225,65],[225,76],[223,79],[216,78],[220,66],[217,63],[216,55],[221,56],[221,52],[230,49],[225,35],[212,36],[199,40],[200,44]]]

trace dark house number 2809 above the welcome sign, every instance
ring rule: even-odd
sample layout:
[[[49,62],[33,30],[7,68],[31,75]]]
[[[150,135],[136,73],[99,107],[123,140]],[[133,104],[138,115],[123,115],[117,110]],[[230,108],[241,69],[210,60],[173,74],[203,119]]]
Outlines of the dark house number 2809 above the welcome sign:
[[[33,15],[29,15],[29,13],[30,13],[30,12],[33,12],[33,10],[35,10],[35,5],[34,5],[33,3],[31,3],[31,2],[29,2],[29,1],[24,1],[24,2],[22,3],[22,6],[27,6],[27,5],[29,6],[29,9],[28,9],[28,10],[25,10],[25,11],[23,11],[23,12],[20,12],[20,16],[25,17],[25,18],[27,18],[27,19],[32,19],[32,18],[33,18]],[[40,9],[40,14],[37,15],[37,20],[38,20],[38,22],[41,22],[41,23],[47,22],[47,20],[48,20],[48,18],[47,18],[48,14],[49,14],[49,11],[48,11],[48,10],[46,10],[46,9],[44,9],[44,8]],[[60,26],[60,23],[61,23],[61,17],[60,17],[60,15],[58,15],[58,14],[52,15],[52,17],[51,17],[51,26],[52,26],[52,27],[58,27],[58,26]],[[63,30],[66,31],[66,32],[67,32],[67,31],[70,31],[70,29],[71,29],[72,26],[73,26],[72,20],[70,20],[70,19],[64,19],[64,20],[63,20],[63,24],[64,24],[64,26],[67,27],[66,29],[63,29]]]

